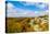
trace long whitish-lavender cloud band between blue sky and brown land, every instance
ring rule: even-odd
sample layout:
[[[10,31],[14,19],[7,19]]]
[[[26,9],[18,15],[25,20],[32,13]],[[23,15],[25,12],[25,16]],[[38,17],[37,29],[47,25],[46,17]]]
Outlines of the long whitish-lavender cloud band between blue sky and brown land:
[[[28,5],[29,3],[27,3]],[[48,11],[33,11],[33,10],[25,10],[21,8],[15,8],[12,3],[8,3],[7,15],[8,18],[16,18],[16,16],[39,16],[47,14]],[[43,13],[42,13],[43,12]]]

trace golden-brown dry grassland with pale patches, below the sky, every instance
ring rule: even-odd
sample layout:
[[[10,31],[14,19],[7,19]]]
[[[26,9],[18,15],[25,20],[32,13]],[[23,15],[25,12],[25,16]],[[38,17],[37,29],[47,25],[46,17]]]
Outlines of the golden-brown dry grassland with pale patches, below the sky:
[[[49,16],[37,18],[7,18],[7,33],[37,32],[49,30]]]

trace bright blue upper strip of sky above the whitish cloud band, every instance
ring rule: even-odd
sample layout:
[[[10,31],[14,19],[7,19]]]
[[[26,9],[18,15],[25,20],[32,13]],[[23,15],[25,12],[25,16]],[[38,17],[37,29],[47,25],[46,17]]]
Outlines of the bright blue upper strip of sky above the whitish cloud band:
[[[15,8],[21,8],[25,10],[33,10],[33,11],[46,11],[48,10],[48,4],[39,2],[39,3],[34,3],[33,4],[25,2],[25,1],[9,1],[12,3]]]

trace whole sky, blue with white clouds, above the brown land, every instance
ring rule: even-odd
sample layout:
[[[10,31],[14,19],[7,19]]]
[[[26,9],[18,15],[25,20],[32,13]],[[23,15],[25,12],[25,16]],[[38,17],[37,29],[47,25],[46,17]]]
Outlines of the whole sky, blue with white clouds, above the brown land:
[[[35,16],[39,14],[45,14],[46,11],[49,10],[48,8],[48,3],[42,2],[8,1],[7,12],[9,16]]]

